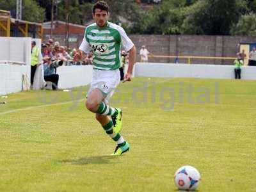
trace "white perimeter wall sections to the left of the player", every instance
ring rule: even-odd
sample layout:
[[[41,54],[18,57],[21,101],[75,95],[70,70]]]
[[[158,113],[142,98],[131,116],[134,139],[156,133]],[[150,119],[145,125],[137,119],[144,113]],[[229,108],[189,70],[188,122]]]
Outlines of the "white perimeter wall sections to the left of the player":
[[[26,65],[7,65],[0,63],[0,95],[20,92],[22,74],[27,74],[30,82],[31,41],[35,40],[40,47],[40,39],[0,37],[0,61],[22,61]],[[34,89],[42,84],[42,70],[38,67],[34,79]],[[84,86],[92,79],[92,66],[63,66],[57,68],[60,75],[59,88]]]

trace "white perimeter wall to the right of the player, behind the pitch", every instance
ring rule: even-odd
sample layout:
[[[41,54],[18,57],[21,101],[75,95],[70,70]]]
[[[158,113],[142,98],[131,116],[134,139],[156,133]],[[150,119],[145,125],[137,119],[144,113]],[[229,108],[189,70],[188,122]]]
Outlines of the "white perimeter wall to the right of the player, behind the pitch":
[[[234,79],[232,65],[196,65],[172,63],[136,63],[136,77],[195,77]],[[256,79],[256,67],[242,67],[242,79]]]

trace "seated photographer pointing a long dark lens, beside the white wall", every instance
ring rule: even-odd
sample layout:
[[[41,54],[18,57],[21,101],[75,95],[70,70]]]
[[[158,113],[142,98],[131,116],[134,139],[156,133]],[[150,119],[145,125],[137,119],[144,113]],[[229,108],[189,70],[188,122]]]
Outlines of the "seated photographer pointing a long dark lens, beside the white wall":
[[[52,82],[52,90],[58,90],[59,75],[56,74],[56,68],[63,65],[63,61],[54,61],[49,56],[46,56],[44,61],[44,80]]]

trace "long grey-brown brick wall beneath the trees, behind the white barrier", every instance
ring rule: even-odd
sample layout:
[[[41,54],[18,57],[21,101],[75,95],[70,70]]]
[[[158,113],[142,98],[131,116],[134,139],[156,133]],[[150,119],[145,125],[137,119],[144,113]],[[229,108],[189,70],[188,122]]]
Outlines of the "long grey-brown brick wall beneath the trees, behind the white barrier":
[[[84,32],[81,35],[75,35],[77,42],[70,44],[70,47],[79,47],[83,40],[83,34]],[[141,45],[146,45],[148,51],[155,55],[236,57],[240,42],[256,42],[256,37],[252,36],[129,35],[129,37],[137,47],[137,61],[140,60],[139,52]],[[63,36],[62,44],[65,44],[64,40],[65,37]],[[149,58],[149,61],[174,63],[175,59]],[[179,58],[179,63],[188,63],[188,59]],[[231,65],[233,61],[193,59],[191,63]]]

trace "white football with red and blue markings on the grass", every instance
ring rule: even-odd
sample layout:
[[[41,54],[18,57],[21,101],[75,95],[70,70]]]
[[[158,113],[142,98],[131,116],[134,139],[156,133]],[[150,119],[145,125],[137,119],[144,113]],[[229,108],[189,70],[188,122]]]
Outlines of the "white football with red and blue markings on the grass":
[[[174,175],[174,183],[180,190],[195,190],[200,182],[200,173],[193,166],[182,166]]]

